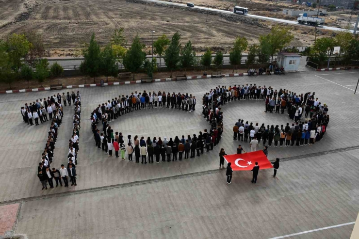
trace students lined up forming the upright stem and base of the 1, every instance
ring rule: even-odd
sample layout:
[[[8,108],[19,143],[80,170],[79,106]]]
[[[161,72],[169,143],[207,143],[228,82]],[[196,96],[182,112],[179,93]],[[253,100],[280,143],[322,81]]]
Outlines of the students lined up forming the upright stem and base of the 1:
[[[69,93],[67,93],[69,95]],[[63,93],[63,95],[65,95]],[[58,94],[59,96],[59,94]],[[52,97],[51,97],[52,98]],[[62,180],[64,181],[64,186],[68,187],[68,177],[70,177],[70,181],[72,182],[72,185],[76,184],[76,165],[78,163],[77,155],[79,150],[79,136],[80,136],[80,114],[81,114],[81,94],[78,91],[77,95],[75,96],[75,99],[73,99],[74,103],[74,116],[73,116],[73,133],[72,137],[69,140],[69,151],[68,151],[68,163],[67,167],[65,167],[64,164],[61,165],[61,168],[56,169],[52,168],[50,169],[50,164],[52,163],[53,159],[53,152],[55,150],[56,145],[56,138],[57,138],[57,130],[58,127],[61,125],[61,119],[63,114],[62,111],[62,96],[57,97],[58,101],[54,102],[58,108],[59,113],[61,114],[61,117],[58,117],[56,114],[56,118],[54,117],[53,123],[51,124],[50,131],[49,131],[49,138],[47,142],[47,146],[45,148],[45,151],[42,155],[42,161],[39,163],[39,166],[37,168],[37,176],[41,182],[42,190],[48,189],[48,183],[50,188],[54,188],[53,179],[55,179],[56,187],[60,186],[62,187]],[[68,105],[71,105],[71,99],[72,98],[65,98],[64,99],[64,105],[66,105],[66,99],[68,101]]]

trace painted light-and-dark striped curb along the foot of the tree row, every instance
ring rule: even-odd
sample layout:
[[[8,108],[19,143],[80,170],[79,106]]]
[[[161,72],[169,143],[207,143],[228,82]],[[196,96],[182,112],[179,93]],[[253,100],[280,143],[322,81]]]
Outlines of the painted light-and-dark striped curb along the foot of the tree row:
[[[357,69],[359,67],[348,67],[348,69]],[[336,68],[341,69],[341,68]],[[324,69],[317,69],[317,71]],[[257,73],[258,75],[258,73]],[[265,72],[263,73],[265,75]],[[222,77],[240,77],[240,76],[248,76],[248,73],[236,73],[236,74],[222,74]],[[188,76],[187,80],[196,80],[196,79],[207,79],[212,78],[211,75],[208,76]],[[153,79],[151,82],[164,82],[164,81],[177,81],[176,78],[165,78],[165,79]],[[125,85],[125,84],[142,84],[141,80],[131,80],[131,81],[122,81],[122,82],[108,82],[104,83],[104,86],[108,85]],[[96,87],[101,86],[100,83],[96,84],[83,84],[83,85],[64,85],[63,89],[72,89],[72,88],[88,88],[88,87]],[[0,91],[0,94],[12,94],[12,93],[24,93],[24,92],[36,92],[36,91],[49,91],[50,87],[42,87],[42,88],[34,88],[34,89],[23,89],[23,90],[12,90],[12,91]]]

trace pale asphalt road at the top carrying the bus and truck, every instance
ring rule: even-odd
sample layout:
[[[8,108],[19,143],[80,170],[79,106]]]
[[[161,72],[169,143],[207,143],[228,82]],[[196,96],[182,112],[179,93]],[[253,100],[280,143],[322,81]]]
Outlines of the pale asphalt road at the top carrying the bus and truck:
[[[180,4],[180,3],[169,2],[169,1],[159,1],[159,0],[148,0],[148,1],[158,2],[158,3],[163,3],[163,4],[177,5],[177,6],[181,6],[181,7],[187,7],[187,4]],[[208,11],[213,11],[213,12],[221,12],[221,13],[233,14],[233,12],[231,12],[231,11],[220,10],[220,9],[215,9],[215,8],[207,8],[207,7],[199,7],[199,6],[195,6],[195,8],[202,9],[202,10],[207,10],[208,9]],[[292,25],[313,27],[313,26],[310,26],[310,25],[307,25],[307,24],[299,24],[296,21],[289,21],[289,20],[284,20],[284,19],[279,19],[279,18],[274,18],[274,17],[257,16],[257,15],[251,15],[251,14],[248,14],[247,16],[254,17],[254,18],[259,18],[259,19],[262,19],[262,20],[270,20],[270,21],[288,23],[288,24],[292,24]],[[346,31],[345,29],[342,29],[342,28],[335,28],[335,27],[328,27],[328,26],[317,26],[317,27],[320,28],[320,29],[327,29],[327,30],[339,31],[339,32]],[[350,30],[350,32],[353,32],[353,31]]]

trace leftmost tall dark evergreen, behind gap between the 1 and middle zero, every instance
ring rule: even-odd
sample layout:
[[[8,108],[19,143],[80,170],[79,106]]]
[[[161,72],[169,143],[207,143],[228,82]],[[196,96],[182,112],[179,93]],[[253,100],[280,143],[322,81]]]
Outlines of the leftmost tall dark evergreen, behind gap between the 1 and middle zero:
[[[83,49],[83,58],[86,75],[93,77],[94,83],[96,83],[95,77],[97,77],[99,73],[100,47],[95,40],[95,33],[92,33],[88,48]]]

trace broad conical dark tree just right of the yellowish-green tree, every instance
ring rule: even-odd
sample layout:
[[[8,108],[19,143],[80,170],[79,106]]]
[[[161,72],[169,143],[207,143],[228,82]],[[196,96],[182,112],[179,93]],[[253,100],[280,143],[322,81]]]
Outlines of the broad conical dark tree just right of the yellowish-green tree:
[[[146,60],[146,53],[144,48],[145,45],[141,43],[140,38],[138,35],[136,35],[133,39],[131,47],[127,50],[123,59],[123,64],[125,65],[126,69],[133,73],[133,80],[135,73],[141,69]]]

